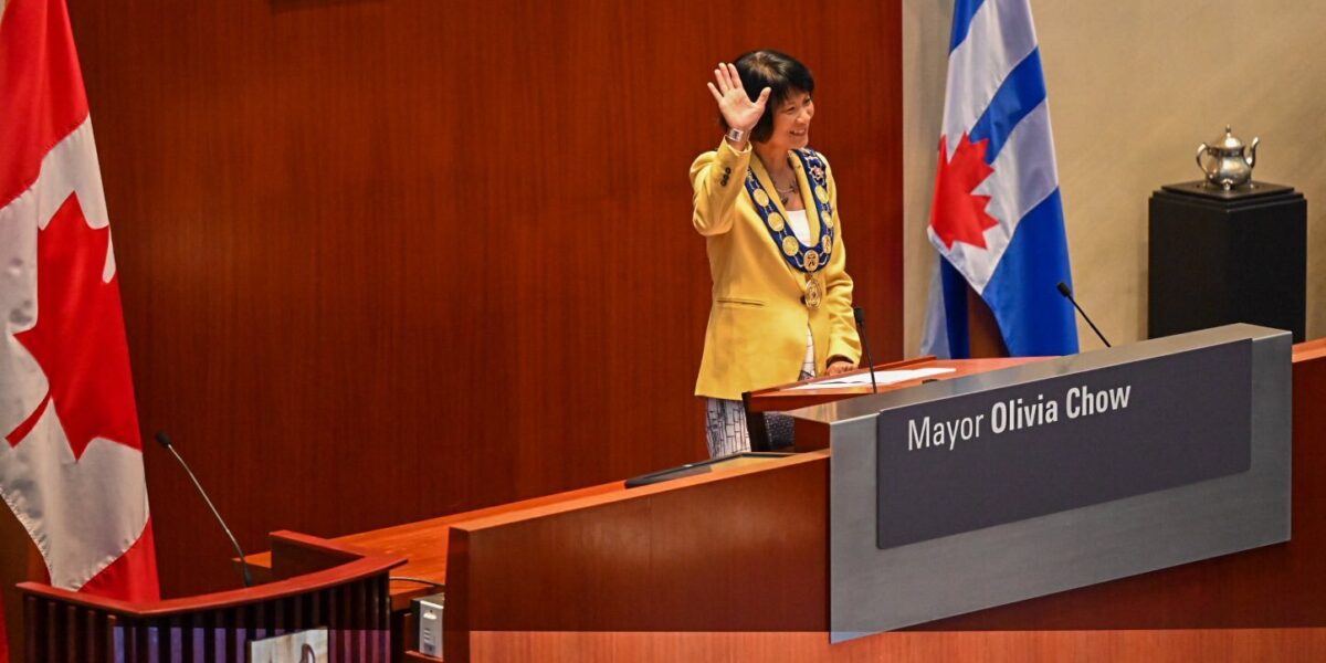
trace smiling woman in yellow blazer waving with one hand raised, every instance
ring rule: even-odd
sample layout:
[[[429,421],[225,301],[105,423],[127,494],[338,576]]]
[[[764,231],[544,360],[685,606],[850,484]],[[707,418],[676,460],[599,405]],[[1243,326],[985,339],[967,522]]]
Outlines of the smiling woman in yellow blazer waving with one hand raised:
[[[713,278],[695,392],[717,457],[751,448],[743,392],[849,371],[861,341],[833,172],[806,147],[814,78],[774,50],[720,64],[713,78],[727,134],[691,164],[691,183]],[[790,442],[789,420],[774,428]]]

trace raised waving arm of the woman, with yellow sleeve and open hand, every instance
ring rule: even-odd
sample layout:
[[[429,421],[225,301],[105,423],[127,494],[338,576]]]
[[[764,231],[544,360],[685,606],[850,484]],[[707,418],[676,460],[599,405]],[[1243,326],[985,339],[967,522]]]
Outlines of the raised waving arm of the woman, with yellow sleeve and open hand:
[[[723,121],[743,135],[736,143],[724,138],[717,151],[701,154],[691,164],[691,187],[695,191],[691,223],[704,236],[732,229],[732,207],[744,188],[745,172],[751,166],[751,130],[760,122],[769,99],[768,88],[760,91],[758,99],[751,99],[741,86],[737,68],[731,64],[719,64],[713,70],[713,82],[708,85]]]

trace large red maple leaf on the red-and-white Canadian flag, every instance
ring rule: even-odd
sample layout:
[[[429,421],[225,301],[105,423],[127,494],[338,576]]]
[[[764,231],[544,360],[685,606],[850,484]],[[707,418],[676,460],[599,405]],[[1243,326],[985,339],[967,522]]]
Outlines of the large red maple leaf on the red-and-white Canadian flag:
[[[17,446],[46,407],[54,407],[74,459],[93,438],[141,450],[119,308],[119,277],[102,281],[110,228],[88,225],[70,194],[37,235],[37,324],[15,334],[41,366],[49,391],[17,428]]]

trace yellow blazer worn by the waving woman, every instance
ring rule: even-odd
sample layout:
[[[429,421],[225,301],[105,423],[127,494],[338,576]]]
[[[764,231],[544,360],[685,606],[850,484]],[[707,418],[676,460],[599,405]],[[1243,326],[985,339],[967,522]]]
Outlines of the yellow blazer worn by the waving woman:
[[[818,237],[823,220],[813,204],[812,184],[801,160],[790,160],[801,199],[808,203],[810,236]],[[765,191],[774,191],[749,143],[739,152],[723,141],[716,151],[701,154],[691,164],[695,190],[691,221],[705,237],[713,278],[704,357],[695,382],[699,396],[736,400],[744,391],[796,382],[806,355],[808,325],[815,342],[815,374],[823,373],[830,357],[854,363],[861,359],[861,339],[851,316],[851,277],[843,269],[847,255],[838,219],[838,188],[831,171],[826,179],[835,245],[827,267],[815,274],[825,296],[818,309],[809,309],[802,304],[805,274],[786,264],[747,194],[748,167]],[[777,196],[772,198],[786,217]]]

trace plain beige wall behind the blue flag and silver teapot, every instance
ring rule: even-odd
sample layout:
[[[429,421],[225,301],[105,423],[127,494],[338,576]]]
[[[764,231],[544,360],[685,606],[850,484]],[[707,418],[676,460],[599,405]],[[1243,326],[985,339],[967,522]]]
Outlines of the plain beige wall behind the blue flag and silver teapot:
[[[906,355],[935,259],[926,240],[952,0],[903,0]],[[1326,4],[1032,0],[1074,289],[1111,342],[1146,337],[1147,199],[1199,179],[1227,123],[1260,137],[1254,178],[1307,198],[1307,338],[1326,335]],[[1079,325],[1082,349],[1099,341]]]

